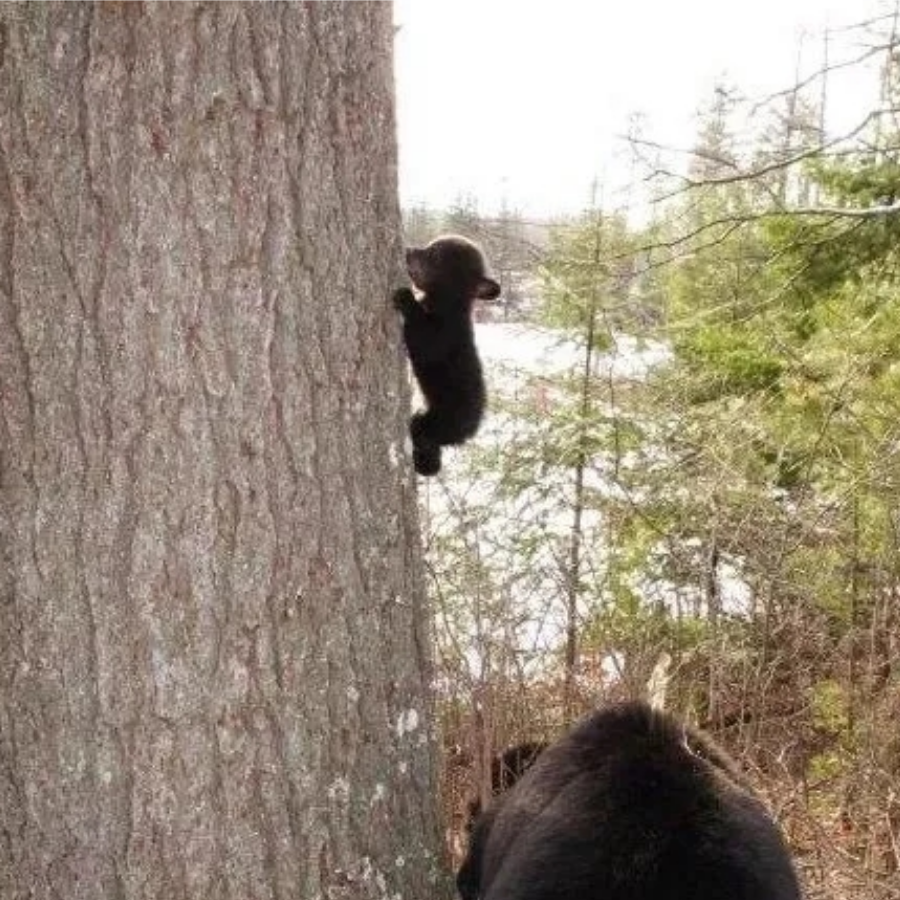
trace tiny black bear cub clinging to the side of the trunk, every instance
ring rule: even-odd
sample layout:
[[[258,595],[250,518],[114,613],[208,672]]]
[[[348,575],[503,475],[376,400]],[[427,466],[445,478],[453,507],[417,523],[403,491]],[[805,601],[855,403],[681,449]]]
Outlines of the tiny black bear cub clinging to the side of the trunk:
[[[485,272],[477,244],[456,235],[406,251],[406,267],[420,300],[409,288],[394,292],[403,314],[403,338],[427,409],[409,423],[413,465],[420,475],[441,469],[441,447],[462,444],[478,430],[485,388],[475,349],[472,306],[494,300],[500,285]]]

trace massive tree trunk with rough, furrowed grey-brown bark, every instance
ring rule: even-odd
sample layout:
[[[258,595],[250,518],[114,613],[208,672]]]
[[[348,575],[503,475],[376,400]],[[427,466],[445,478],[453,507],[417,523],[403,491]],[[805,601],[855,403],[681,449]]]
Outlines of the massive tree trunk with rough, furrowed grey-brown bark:
[[[435,893],[389,0],[0,0],[0,897]]]

